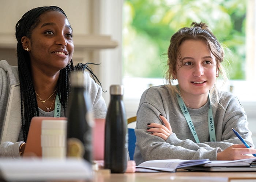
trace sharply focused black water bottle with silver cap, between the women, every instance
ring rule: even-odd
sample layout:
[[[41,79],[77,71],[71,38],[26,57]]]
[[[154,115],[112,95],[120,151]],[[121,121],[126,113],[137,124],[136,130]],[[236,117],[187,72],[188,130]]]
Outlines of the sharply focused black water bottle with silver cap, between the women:
[[[127,168],[127,118],[123,102],[124,88],[110,86],[110,103],[105,124],[104,165],[111,173],[124,173]]]

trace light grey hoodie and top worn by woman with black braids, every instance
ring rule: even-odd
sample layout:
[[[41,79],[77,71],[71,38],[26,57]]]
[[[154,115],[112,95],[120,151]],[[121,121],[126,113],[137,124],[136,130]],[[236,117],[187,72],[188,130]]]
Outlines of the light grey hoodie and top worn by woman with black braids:
[[[106,103],[102,97],[101,87],[90,78],[88,72],[87,90],[90,90],[90,99],[94,118],[105,118]],[[61,108],[61,117],[64,117]],[[39,116],[54,116],[54,110],[45,112],[39,108]],[[19,157],[19,146],[23,140],[20,113],[20,88],[18,67],[10,66],[7,61],[0,61],[0,157]],[[4,126],[8,127],[3,136]]]

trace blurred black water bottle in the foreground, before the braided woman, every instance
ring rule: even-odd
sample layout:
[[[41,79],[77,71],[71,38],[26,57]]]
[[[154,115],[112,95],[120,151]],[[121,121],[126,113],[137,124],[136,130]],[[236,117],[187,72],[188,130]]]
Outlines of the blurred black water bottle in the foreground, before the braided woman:
[[[67,113],[67,157],[84,158],[91,163],[94,120],[86,80],[83,71],[71,73]]]

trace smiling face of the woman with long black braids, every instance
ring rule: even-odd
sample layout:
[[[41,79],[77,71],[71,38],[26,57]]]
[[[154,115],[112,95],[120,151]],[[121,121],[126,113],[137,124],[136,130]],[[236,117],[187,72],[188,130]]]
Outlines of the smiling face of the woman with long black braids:
[[[44,72],[58,72],[71,61],[74,52],[72,28],[58,11],[39,16],[28,42],[31,67]]]

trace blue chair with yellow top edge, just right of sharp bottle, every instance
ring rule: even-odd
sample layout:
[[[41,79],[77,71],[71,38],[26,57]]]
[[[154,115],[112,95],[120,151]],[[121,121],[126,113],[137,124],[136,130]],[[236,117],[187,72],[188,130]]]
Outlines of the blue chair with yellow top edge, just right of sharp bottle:
[[[127,124],[136,122],[136,121],[137,121],[137,117],[134,116],[127,119]],[[128,128],[128,151],[129,151],[130,160],[133,160],[135,142],[136,142],[136,135],[135,135],[134,128]]]

